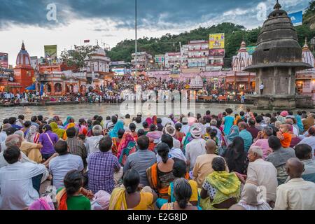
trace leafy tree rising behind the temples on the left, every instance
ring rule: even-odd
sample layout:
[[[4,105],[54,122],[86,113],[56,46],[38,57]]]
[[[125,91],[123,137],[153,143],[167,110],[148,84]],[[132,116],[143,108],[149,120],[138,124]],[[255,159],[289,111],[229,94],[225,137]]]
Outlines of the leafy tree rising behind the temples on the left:
[[[74,45],[74,50],[64,50],[61,52],[63,62],[66,62],[68,66],[76,66],[79,69],[83,69],[87,66],[84,59],[90,57],[90,53],[99,48],[98,45]]]

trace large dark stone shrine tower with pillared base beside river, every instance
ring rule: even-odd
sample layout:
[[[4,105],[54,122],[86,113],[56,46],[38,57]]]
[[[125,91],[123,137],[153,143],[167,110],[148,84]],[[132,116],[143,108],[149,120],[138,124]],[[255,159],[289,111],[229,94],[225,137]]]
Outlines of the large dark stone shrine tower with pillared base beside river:
[[[309,68],[309,64],[302,62],[302,48],[292,21],[276,1],[274,11],[268,15],[258,36],[253,64],[245,69],[256,73],[257,94],[247,98],[252,99],[258,109],[290,110],[310,106],[307,97],[295,96],[295,72]],[[265,87],[260,94],[262,83]]]

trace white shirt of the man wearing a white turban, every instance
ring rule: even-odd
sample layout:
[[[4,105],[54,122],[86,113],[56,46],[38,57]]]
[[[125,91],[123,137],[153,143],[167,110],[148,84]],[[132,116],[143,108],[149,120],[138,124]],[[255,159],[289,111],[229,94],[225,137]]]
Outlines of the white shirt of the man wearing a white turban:
[[[193,169],[196,159],[206,154],[206,141],[204,139],[193,139],[186,145],[186,159],[190,160],[190,169]]]

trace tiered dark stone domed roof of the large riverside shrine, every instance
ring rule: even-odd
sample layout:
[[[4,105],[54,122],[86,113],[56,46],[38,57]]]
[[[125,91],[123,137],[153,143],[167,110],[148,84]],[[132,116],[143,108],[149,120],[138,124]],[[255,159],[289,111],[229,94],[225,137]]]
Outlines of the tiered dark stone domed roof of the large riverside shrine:
[[[257,48],[253,53],[253,64],[246,71],[266,67],[290,66],[296,69],[309,69],[302,62],[302,48],[292,21],[276,1],[274,11],[269,14],[258,36]]]

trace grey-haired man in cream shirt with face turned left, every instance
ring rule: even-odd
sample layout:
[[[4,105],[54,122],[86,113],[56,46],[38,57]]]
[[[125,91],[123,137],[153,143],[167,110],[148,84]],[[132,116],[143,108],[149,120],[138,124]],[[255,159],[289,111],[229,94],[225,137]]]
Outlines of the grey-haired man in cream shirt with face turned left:
[[[276,202],[276,168],[271,162],[262,160],[263,152],[258,146],[251,146],[248,151],[248,169],[246,183],[255,183],[265,188],[267,198],[265,199],[271,206]]]

